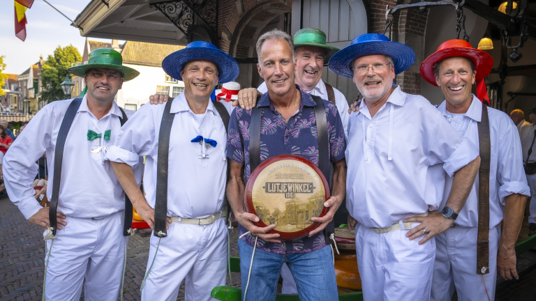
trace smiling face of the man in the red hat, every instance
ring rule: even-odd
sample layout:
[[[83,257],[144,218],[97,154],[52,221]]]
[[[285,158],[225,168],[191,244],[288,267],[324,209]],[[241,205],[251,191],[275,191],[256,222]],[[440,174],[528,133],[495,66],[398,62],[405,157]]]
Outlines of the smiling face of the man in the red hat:
[[[472,70],[469,59],[454,56],[440,61],[435,83],[440,86],[449,105],[459,107],[471,102],[471,87],[477,72]]]

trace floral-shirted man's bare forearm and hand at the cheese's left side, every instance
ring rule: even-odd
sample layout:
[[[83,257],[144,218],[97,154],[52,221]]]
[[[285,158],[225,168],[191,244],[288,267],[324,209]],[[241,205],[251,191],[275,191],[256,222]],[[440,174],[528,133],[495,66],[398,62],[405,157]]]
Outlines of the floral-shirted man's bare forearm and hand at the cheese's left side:
[[[244,164],[239,164],[229,157],[228,164],[231,164],[231,171],[229,183],[227,185],[227,199],[231,205],[234,216],[237,217],[237,221],[248,229],[248,231],[251,231],[251,235],[253,236],[258,236],[269,242],[281,242],[281,240],[277,239],[279,238],[279,234],[267,233],[276,227],[275,224],[271,224],[264,228],[255,226],[253,222],[258,222],[259,217],[254,214],[247,213],[244,210]]]

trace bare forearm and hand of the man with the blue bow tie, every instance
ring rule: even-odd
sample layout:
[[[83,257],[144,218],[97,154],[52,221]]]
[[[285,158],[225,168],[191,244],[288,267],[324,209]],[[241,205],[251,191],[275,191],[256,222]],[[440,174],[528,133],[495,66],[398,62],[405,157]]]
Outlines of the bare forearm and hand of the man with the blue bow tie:
[[[154,229],[154,209],[149,206],[145,196],[140,190],[140,186],[137,185],[134,178],[133,168],[126,163],[119,163],[110,161],[112,169],[114,169],[115,176],[123,190],[125,191],[128,199],[131,200],[132,205],[136,208],[136,212],[142,219],[149,224],[151,229]],[[171,218],[168,217],[168,224],[171,223]],[[168,224],[165,225],[166,229],[169,229]]]

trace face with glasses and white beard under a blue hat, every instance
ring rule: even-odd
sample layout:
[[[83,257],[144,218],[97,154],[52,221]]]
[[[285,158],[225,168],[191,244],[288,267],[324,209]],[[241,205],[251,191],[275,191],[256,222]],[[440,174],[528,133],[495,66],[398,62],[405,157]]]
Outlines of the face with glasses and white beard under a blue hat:
[[[358,75],[356,68],[363,66],[368,66],[368,71],[364,75]],[[352,67],[354,69],[353,82],[367,104],[378,102],[385,95],[391,93],[395,74],[394,66],[389,63],[387,56],[383,54],[362,56],[355,59]]]

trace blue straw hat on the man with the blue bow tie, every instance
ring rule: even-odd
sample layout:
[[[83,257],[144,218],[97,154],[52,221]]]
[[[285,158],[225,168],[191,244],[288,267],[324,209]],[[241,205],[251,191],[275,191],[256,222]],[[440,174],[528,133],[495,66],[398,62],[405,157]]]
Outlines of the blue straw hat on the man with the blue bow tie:
[[[196,41],[192,42],[184,49],[165,57],[162,61],[162,69],[170,77],[182,80],[181,70],[184,64],[192,60],[207,60],[215,63],[218,66],[218,83],[225,84],[232,82],[238,77],[240,72],[238,63],[229,54],[216,48],[208,42]]]

